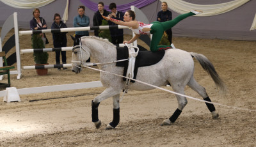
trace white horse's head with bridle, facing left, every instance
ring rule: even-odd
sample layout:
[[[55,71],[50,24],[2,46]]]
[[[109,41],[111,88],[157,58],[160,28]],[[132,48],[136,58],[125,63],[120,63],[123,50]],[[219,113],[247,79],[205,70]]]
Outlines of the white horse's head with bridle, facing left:
[[[72,72],[78,74],[82,70],[82,65],[90,58],[90,52],[88,52],[88,47],[82,47],[79,38],[74,38],[74,46],[72,49]]]

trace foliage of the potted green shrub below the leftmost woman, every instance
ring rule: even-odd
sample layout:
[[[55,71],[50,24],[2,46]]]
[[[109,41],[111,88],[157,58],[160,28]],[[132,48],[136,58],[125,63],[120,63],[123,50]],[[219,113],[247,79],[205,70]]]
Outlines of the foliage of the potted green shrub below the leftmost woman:
[[[33,49],[44,49],[44,41],[39,34],[34,34],[31,38]],[[36,65],[46,64],[49,58],[47,52],[34,52],[33,53],[34,61]]]

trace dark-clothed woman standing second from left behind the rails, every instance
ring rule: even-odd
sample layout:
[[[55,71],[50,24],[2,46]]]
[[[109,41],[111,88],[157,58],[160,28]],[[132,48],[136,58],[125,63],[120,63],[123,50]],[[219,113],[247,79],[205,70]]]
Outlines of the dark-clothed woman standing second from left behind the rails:
[[[67,28],[66,24],[64,24],[61,21],[60,14],[55,13],[53,20],[54,20],[54,22],[52,23],[51,29]],[[66,34],[67,34],[67,32],[52,33],[52,40],[53,40],[54,48],[67,47],[67,36],[66,36]],[[60,65],[60,54],[61,54],[62,63],[63,64],[67,63],[66,51],[56,50],[55,51],[56,65]],[[63,70],[65,70],[65,69],[67,69],[67,68],[63,68]],[[58,70],[61,70],[61,68],[59,67]]]

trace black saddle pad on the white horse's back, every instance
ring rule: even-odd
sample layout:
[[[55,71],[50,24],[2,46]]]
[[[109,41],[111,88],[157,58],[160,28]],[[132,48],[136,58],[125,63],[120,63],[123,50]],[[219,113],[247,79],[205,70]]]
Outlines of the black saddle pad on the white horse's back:
[[[117,60],[129,58],[129,51],[126,46],[125,47],[116,47],[116,53],[117,53]],[[157,52],[151,52],[148,50],[147,51],[139,51],[138,56],[136,57],[136,60],[135,60],[133,79],[136,79],[136,75],[137,75],[139,67],[150,66],[150,65],[154,65],[154,64],[158,63],[163,58],[164,53],[165,53],[165,50],[160,50]],[[124,76],[126,76],[127,68],[128,68],[128,61],[117,62],[116,66],[124,67]],[[124,78],[124,81],[126,81],[126,78]],[[135,81],[131,81],[131,82],[135,82]]]

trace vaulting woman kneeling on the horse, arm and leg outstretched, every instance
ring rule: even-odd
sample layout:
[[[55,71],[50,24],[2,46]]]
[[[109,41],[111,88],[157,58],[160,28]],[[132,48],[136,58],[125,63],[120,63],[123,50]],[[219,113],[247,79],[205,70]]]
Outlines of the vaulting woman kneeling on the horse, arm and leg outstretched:
[[[177,23],[179,23],[181,20],[186,19],[189,16],[196,15],[198,13],[201,13],[200,11],[192,10],[189,13],[185,13],[182,15],[179,15],[173,20],[169,20],[166,22],[152,22],[152,24],[144,24],[143,22],[139,22],[135,20],[135,13],[132,10],[128,10],[124,14],[124,22],[121,20],[112,19],[110,17],[104,17],[106,20],[110,20],[111,22],[115,22],[115,24],[119,24],[122,26],[128,26],[132,29],[135,36],[129,40],[124,41],[124,43],[132,43],[135,40],[137,40],[140,35],[150,35],[152,34],[152,40],[150,42],[150,50],[152,52],[156,52],[157,50],[166,50],[166,49],[172,49],[172,46],[170,45],[159,45],[159,42],[163,36],[164,31],[167,29],[172,28]]]

